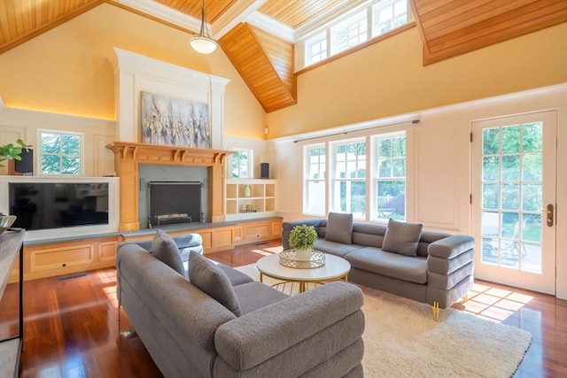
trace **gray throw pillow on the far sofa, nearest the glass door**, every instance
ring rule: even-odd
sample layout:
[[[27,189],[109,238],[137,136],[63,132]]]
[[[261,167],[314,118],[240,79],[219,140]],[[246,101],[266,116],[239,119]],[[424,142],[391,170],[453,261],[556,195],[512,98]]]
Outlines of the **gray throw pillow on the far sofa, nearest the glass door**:
[[[417,244],[422,236],[422,224],[388,221],[382,251],[417,256]]]

